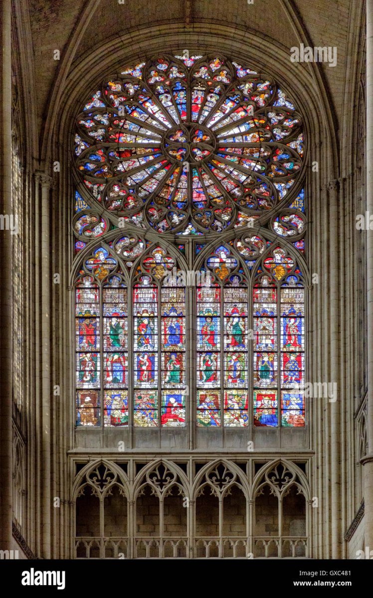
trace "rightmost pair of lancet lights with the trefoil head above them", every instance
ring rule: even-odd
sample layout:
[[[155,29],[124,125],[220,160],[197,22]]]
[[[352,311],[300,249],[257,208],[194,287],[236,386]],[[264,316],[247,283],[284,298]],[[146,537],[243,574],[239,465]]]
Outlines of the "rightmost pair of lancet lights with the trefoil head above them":
[[[304,285],[284,249],[263,260],[253,289],[254,425],[303,427]]]

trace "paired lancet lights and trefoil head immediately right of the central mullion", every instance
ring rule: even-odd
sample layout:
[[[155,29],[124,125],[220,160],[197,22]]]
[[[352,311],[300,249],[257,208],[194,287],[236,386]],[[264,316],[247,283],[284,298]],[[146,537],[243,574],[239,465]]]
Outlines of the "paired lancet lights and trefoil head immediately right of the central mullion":
[[[231,250],[207,259],[197,289],[197,425],[248,425],[248,288]]]

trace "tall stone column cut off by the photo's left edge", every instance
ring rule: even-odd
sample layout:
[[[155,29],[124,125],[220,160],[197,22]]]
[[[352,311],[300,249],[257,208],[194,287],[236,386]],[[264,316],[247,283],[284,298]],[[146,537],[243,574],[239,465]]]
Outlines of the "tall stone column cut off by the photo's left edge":
[[[8,222],[12,216],[11,162],[11,2],[3,0],[1,7],[0,66],[0,255],[2,257],[0,285],[0,550],[11,550],[13,518],[12,498],[12,352],[13,352],[13,236]],[[13,223],[14,224],[14,223]]]

